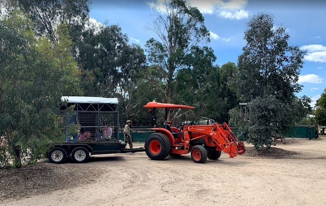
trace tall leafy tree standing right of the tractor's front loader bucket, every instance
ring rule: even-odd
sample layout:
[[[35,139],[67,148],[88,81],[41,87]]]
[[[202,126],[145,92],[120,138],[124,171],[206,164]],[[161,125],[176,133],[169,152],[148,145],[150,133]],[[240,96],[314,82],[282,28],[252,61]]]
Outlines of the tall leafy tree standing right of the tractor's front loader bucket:
[[[251,18],[244,32],[247,45],[231,84],[240,100],[248,102],[247,128],[256,148],[269,147],[272,135],[285,134],[297,119],[306,116],[306,112],[293,115],[299,114],[298,109],[309,110],[311,100],[294,95],[302,88],[297,81],[305,51],[290,46],[289,37],[285,27],[274,27],[273,16],[264,13]]]

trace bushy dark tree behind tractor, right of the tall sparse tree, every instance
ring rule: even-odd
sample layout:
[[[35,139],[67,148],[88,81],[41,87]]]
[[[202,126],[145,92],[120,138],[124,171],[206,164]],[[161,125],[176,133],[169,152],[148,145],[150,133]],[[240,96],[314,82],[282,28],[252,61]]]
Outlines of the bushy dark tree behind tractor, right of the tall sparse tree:
[[[194,112],[186,114],[189,120],[199,120],[201,116],[216,119],[217,103],[221,78],[218,66],[213,66],[216,57],[207,46],[193,47],[192,53],[186,54],[185,68],[176,73],[173,102],[194,106]]]

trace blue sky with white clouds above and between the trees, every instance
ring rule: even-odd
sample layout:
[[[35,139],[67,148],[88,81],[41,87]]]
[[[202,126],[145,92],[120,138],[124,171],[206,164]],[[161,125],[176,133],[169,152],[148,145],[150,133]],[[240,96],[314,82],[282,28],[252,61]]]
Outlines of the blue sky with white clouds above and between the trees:
[[[119,24],[130,43],[143,48],[146,41],[156,38],[145,27],[155,20],[153,8],[164,0],[93,0],[91,18],[108,24]],[[297,96],[312,98],[312,106],[326,88],[326,1],[323,0],[186,0],[205,17],[211,33],[211,46],[220,66],[237,63],[244,31],[250,17],[259,12],[274,16],[275,25],[283,25],[290,35],[289,44],[308,51],[299,83],[304,86]]]

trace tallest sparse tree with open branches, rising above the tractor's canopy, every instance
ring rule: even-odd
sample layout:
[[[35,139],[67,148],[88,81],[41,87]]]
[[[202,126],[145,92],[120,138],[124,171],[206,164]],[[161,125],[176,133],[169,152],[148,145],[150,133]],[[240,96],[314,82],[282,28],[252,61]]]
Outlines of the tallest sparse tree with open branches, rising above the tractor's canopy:
[[[156,33],[159,40],[148,40],[146,51],[151,69],[155,69],[164,82],[161,87],[157,85],[162,93],[160,101],[170,103],[176,95],[174,91],[177,70],[189,67],[185,63],[186,56],[198,49],[200,43],[209,41],[209,32],[200,11],[184,0],[165,1],[160,6],[159,8],[164,9],[155,10],[157,19],[148,27]],[[154,82],[153,79],[150,81]]]

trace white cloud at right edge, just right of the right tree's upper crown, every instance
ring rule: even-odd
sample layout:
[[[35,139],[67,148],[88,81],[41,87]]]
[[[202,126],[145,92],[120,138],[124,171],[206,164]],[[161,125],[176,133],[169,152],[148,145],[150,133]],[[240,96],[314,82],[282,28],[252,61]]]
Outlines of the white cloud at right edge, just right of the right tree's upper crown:
[[[300,49],[307,50],[305,60],[310,62],[326,62],[326,46],[321,44],[310,44],[301,46]]]

